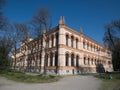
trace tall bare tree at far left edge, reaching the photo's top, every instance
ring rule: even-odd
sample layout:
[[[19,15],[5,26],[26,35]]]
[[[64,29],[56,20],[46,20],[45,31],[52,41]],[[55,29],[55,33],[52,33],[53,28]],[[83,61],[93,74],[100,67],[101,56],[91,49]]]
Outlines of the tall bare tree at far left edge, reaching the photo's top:
[[[6,27],[8,27],[9,22],[7,18],[3,15],[3,6],[6,0],[0,0],[0,66],[7,67],[9,65],[9,54],[12,49],[12,41],[9,36],[5,33]]]

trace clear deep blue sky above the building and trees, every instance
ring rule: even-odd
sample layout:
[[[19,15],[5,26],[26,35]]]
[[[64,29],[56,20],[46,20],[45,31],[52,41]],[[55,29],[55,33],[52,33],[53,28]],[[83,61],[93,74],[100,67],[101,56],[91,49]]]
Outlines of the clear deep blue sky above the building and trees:
[[[66,25],[103,44],[104,27],[120,19],[120,0],[6,0],[4,15],[10,22],[30,21],[39,7],[46,7],[57,26],[60,16]]]

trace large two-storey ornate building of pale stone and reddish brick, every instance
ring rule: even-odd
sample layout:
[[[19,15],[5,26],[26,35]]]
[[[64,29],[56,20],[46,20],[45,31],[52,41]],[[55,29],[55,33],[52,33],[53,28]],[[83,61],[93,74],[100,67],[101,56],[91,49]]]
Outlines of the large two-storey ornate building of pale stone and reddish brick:
[[[111,51],[82,30],[66,26],[63,17],[41,38],[22,41],[16,57],[16,67],[31,72],[70,75],[113,70]]]

